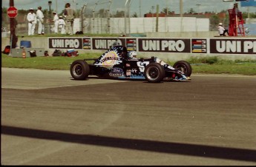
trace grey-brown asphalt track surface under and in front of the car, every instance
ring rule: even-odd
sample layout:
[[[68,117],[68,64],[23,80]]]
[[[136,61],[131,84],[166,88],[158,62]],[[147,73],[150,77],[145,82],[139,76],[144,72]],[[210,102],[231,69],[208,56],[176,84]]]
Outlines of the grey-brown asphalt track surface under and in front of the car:
[[[1,165],[255,166],[256,76],[190,82],[1,68]]]

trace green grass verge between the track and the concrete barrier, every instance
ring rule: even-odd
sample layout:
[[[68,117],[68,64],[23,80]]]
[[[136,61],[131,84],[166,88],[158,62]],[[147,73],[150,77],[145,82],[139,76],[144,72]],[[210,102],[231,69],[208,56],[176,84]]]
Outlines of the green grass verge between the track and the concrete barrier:
[[[47,56],[35,58],[12,58],[1,54],[1,67],[27,69],[70,69],[77,59],[99,58],[102,52],[83,53],[77,57]],[[256,75],[256,61],[226,61],[217,57],[189,59],[193,73]],[[166,61],[173,65],[174,62]],[[200,64],[200,65],[198,65]],[[202,65],[203,64],[203,65]]]

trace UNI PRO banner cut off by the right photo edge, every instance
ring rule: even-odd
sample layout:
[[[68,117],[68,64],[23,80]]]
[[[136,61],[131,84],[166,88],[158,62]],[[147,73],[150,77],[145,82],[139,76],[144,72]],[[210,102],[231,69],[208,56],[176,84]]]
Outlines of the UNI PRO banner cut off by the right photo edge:
[[[256,54],[256,39],[210,39],[210,53]]]

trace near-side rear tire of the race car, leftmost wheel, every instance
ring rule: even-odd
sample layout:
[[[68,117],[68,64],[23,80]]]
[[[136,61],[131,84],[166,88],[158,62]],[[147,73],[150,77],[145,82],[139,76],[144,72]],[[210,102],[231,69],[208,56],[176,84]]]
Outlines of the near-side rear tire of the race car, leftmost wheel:
[[[73,61],[70,66],[70,74],[75,80],[85,80],[90,74],[90,67],[86,61]]]

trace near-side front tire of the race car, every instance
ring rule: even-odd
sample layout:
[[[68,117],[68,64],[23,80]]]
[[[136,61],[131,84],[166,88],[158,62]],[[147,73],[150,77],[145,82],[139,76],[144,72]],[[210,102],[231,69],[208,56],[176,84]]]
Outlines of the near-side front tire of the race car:
[[[151,63],[145,67],[144,76],[148,82],[158,83],[163,81],[163,78],[165,77],[165,69],[161,64]]]

